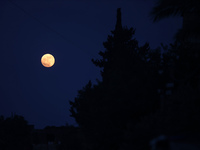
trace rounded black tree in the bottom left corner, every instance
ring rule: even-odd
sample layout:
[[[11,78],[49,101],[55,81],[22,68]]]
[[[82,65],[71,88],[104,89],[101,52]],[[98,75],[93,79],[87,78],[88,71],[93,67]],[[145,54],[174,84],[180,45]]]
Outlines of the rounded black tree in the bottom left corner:
[[[31,149],[30,127],[27,121],[18,115],[0,119],[0,149]]]

